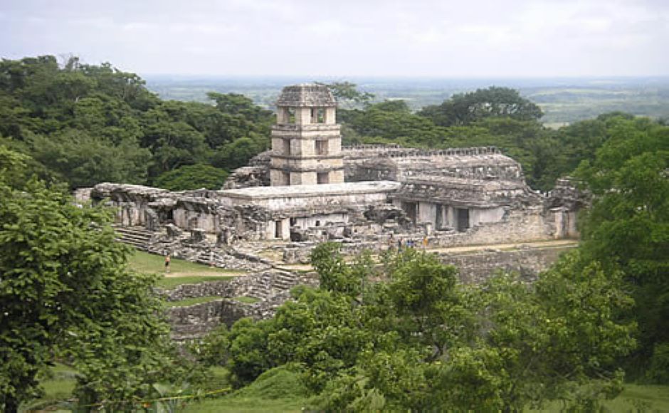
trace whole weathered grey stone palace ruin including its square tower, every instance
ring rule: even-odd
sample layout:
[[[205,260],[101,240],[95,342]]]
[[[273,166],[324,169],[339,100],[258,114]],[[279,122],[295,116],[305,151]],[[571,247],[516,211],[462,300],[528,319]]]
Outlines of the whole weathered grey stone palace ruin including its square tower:
[[[495,147],[342,147],[336,103],[322,85],[284,88],[277,108],[272,149],[221,190],[105,183],[90,198],[117,208],[122,240],[139,248],[249,271],[305,263],[326,240],[356,253],[406,241],[449,247],[578,235],[583,200],[569,181],[536,192]]]

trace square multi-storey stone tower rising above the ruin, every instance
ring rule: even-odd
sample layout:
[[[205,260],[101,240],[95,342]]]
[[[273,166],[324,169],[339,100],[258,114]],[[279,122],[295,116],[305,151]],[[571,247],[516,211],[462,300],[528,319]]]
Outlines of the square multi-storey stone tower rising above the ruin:
[[[325,85],[283,88],[272,127],[270,183],[287,185],[344,182],[342,135],[335,123],[337,102]]]

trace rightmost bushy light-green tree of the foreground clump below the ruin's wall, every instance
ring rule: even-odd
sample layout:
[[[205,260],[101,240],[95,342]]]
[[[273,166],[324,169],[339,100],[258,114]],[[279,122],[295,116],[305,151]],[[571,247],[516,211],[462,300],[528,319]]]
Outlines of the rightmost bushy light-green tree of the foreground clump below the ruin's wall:
[[[621,390],[616,357],[635,342],[633,323],[616,312],[632,301],[620,274],[577,254],[562,258],[534,286],[502,274],[473,287],[468,302],[478,324],[475,339],[459,342],[434,372],[435,405],[457,409],[523,409],[548,400],[579,408]]]

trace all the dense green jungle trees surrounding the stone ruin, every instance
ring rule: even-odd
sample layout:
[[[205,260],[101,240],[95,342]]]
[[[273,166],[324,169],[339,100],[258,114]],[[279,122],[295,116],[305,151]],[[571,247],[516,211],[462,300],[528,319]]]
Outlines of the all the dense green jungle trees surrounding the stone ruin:
[[[128,270],[109,211],[67,192],[103,181],[219,187],[267,147],[272,113],[232,94],[163,101],[136,75],[75,58],[2,61],[0,410],[35,397],[55,360],[77,370],[81,409],[110,411],[198,392],[204,365],[226,367],[236,387],[293,372],[310,407],[337,411],[594,409],[623,375],[669,383],[668,126],[612,113],[547,130],[505,88],[412,113],[332,86],[353,102],[339,110],[349,143],[497,145],[535,188],[580,179],[593,202],[579,249],[536,283],[500,273],[464,286],[428,253],[347,264],[322,244],[321,288],[296,288],[270,320],[216,330],[189,362],[169,345],[154,279]]]

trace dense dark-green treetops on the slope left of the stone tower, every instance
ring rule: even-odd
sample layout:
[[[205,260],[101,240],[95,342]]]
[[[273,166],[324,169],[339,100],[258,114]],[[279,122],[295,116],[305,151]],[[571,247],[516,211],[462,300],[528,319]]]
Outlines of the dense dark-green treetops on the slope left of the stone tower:
[[[3,60],[0,136],[33,157],[33,172],[70,187],[154,184],[195,164],[229,171],[268,147],[269,110],[234,93],[209,98],[214,105],[160,100],[109,63]]]

